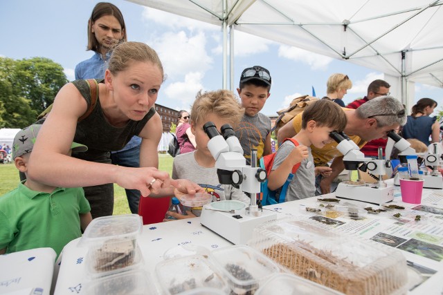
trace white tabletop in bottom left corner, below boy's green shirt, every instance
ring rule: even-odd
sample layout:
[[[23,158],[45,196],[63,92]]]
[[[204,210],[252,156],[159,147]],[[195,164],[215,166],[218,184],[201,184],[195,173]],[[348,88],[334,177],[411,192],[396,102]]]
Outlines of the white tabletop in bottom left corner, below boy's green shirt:
[[[0,294],[48,295],[56,256],[52,248],[0,255]]]

